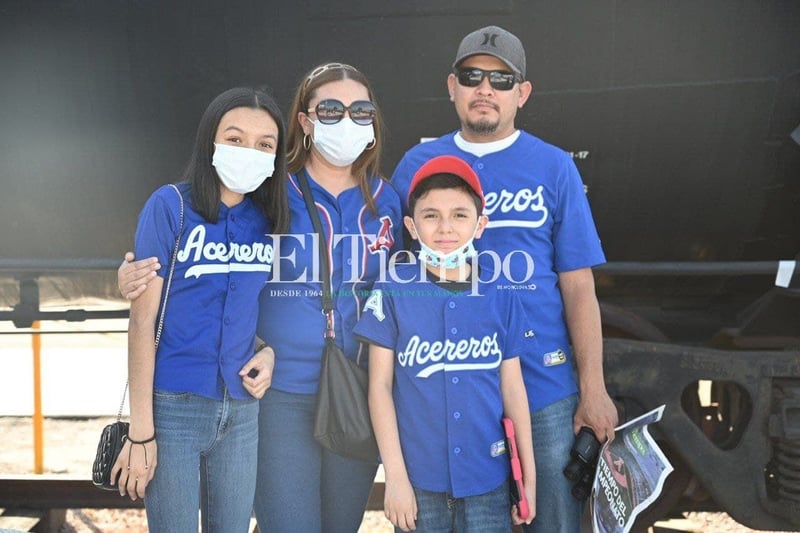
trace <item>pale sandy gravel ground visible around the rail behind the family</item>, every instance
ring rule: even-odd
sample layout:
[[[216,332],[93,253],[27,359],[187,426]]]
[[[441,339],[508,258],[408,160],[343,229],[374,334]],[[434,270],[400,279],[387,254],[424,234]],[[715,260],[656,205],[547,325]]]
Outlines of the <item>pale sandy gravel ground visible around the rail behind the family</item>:
[[[113,418],[46,418],[44,421],[44,470],[53,474],[82,474],[87,477],[103,426]],[[33,429],[28,417],[0,417],[0,472],[33,473]],[[16,443],[11,447],[9,443]],[[144,511],[71,509],[61,533],[146,532]],[[688,513],[684,519],[657,524],[655,531],[748,533],[724,513]],[[652,530],[652,528],[651,528]],[[364,513],[358,533],[390,533],[391,524],[381,511]]]

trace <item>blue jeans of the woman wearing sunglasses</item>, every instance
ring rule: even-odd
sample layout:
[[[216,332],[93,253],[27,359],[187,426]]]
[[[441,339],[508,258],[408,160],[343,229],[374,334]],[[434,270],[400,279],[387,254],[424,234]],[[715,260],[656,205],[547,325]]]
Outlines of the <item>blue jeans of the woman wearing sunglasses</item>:
[[[255,511],[262,533],[355,533],[378,466],[314,440],[314,394],[267,390],[259,412]]]

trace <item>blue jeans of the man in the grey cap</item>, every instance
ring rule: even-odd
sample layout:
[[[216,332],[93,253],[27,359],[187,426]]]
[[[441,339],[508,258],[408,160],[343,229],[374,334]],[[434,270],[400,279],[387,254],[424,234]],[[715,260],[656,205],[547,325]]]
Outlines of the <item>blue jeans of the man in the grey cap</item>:
[[[578,395],[573,394],[531,413],[536,460],[536,518],[531,525],[523,527],[526,533],[578,533],[581,530],[583,502],[572,496],[572,483],[563,472],[575,440],[572,419],[577,408]]]

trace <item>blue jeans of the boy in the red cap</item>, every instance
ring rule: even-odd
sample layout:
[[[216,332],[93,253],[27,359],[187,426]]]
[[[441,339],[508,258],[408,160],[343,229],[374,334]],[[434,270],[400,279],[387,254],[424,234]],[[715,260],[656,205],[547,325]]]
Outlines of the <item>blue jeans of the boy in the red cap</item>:
[[[477,496],[453,498],[444,492],[414,487],[417,500],[415,533],[508,533],[511,502],[508,482]],[[395,528],[396,532],[402,531]]]

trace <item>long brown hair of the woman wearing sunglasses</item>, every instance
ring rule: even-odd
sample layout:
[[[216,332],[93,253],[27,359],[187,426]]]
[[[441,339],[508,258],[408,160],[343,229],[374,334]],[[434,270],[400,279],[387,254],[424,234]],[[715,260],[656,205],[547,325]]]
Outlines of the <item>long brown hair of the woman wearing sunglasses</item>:
[[[303,128],[297,119],[299,113],[308,112],[308,103],[314,98],[318,88],[326,83],[339,80],[353,80],[367,89],[369,100],[375,105],[378,112],[375,114],[373,126],[375,129],[375,143],[372,148],[364,150],[353,162],[353,177],[358,181],[364,203],[373,213],[377,213],[375,200],[369,187],[369,178],[380,177],[381,148],[383,147],[383,118],[375,94],[372,92],[367,77],[355,67],[344,63],[323,63],[306,73],[297,87],[292,108],[289,111],[289,141],[287,144],[287,157],[289,159],[289,172],[295,173],[303,168],[308,158],[308,150],[303,146]]]

